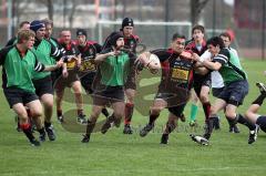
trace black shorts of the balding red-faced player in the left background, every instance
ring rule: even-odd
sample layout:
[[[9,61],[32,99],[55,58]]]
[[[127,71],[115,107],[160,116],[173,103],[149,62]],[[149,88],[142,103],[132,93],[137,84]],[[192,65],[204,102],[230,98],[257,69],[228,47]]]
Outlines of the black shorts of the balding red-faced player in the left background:
[[[68,72],[69,72],[68,77],[63,77],[63,75],[60,75],[58,77],[58,80],[55,81],[55,83],[54,83],[55,91],[60,92],[60,91],[64,90],[66,86],[71,87],[73,82],[80,81],[76,70],[70,70]]]

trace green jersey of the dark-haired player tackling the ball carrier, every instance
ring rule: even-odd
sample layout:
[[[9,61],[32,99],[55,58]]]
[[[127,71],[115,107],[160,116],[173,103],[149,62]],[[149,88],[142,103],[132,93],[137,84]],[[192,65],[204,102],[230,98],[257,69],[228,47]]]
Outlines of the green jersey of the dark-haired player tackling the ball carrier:
[[[221,73],[225,85],[247,79],[238,56],[229,52],[228,49],[222,49],[218,55],[213,59],[213,62],[219,62],[222,64],[218,72]]]

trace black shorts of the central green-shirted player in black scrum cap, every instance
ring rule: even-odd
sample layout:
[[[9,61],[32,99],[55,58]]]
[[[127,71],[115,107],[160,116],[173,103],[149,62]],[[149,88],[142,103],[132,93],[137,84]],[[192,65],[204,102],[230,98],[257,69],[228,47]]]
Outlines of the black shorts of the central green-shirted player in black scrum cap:
[[[106,86],[95,90],[92,94],[94,105],[106,105],[115,102],[124,102],[123,86]]]

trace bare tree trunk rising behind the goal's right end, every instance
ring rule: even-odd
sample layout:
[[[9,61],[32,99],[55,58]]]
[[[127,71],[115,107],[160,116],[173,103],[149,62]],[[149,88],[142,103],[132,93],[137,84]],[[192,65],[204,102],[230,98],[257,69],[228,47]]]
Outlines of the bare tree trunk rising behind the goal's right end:
[[[191,22],[192,25],[195,25],[198,20],[202,10],[207,4],[209,0],[191,0]]]

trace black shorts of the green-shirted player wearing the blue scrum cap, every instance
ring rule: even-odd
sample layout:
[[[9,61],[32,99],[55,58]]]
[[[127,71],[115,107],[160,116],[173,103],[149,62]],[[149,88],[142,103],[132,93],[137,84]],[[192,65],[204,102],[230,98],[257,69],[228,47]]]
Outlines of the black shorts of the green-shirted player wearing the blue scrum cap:
[[[35,94],[41,97],[43,94],[52,94],[53,95],[53,86],[51,75],[45,76],[40,80],[32,81],[35,87]]]

